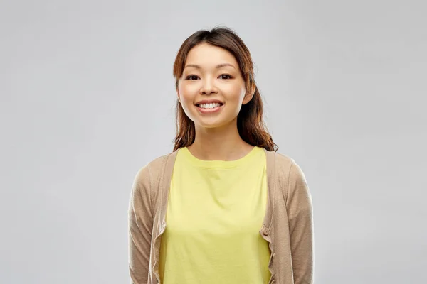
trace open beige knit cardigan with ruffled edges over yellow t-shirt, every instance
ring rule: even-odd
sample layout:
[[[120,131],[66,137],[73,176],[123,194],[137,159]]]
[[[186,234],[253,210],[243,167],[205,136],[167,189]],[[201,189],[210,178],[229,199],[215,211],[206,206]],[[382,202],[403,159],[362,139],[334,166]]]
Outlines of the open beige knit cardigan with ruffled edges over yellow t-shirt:
[[[268,201],[260,234],[268,241],[271,251],[268,283],[312,284],[312,198],[305,175],[292,158],[275,151],[264,151]],[[160,284],[160,242],[167,226],[167,198],[176,153],[152,160],[135,176],[128,211],[132,284]]]

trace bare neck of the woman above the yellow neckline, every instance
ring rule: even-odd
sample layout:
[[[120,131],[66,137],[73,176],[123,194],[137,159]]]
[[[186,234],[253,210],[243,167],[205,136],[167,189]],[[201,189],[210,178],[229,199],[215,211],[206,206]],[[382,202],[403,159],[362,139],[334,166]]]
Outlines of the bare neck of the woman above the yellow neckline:
[[[243,141],[235,120],[216,128],[196,125],[196,138],[187,148],[200,160],[238,160],[249,153],[253,146]]]

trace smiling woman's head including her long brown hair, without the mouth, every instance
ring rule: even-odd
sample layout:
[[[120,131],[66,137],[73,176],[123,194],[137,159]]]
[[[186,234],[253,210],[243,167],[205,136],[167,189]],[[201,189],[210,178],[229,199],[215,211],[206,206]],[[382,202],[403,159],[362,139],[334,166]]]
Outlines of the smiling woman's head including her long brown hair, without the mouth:
[[[174,77],[178,94],[174,151],[194,142],[196,126],[217,128],[227,124],[237,124],[246,143],[277,151],[278,146],[265,130],[251,53],[230,28],[201,30],[189,36],[176,55]],[[218,100],[221,107],[206,113],[198,104],[205,99]]]

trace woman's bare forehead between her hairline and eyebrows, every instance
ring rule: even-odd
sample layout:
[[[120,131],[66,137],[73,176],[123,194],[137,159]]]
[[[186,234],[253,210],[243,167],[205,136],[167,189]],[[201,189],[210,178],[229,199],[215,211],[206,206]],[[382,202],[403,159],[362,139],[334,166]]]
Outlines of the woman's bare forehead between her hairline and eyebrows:
[[[220,48],[209,43],[200,43],[189,51],[186,64],[197,64],[201,67],[210,67],[221,63],[231,63],[238,67],[236,58],[225,48]]]

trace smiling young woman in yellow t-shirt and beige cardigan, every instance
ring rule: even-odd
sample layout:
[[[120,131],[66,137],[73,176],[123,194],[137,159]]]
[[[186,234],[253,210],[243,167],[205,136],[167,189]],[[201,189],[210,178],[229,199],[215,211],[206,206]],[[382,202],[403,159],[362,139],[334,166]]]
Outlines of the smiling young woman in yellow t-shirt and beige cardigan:
[[[197,31],[174,77],[174,151],[132,185],[131,283],[313,283],[310,191],[265,130],[246,45],[229,28]]]

